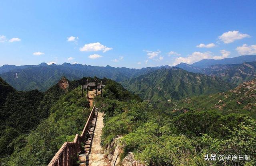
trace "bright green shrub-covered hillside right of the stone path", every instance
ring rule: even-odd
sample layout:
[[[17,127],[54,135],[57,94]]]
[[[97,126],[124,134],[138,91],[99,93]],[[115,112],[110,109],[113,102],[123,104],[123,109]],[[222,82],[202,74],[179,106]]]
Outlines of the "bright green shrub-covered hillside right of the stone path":
[[[256,164],[255,119],[236,113],[222,115],[207,108],[164,111],[150,102],[115,98],[116,92],[107,91],[104,98],[98,96],[96,100],[105,113],[102,145],[108,148],[119,138],[120,160],[129,160],[126,156],[132,152],[132,161],[146,166]],[[113,155],[116,150],[107,152]],[[205,154],[250,154],[250,161],[205,161]]]

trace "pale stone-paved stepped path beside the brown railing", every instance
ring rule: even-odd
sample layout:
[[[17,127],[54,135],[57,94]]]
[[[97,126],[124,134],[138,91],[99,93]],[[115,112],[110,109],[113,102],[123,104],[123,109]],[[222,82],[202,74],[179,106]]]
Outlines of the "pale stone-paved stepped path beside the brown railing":
[[[79,156],[80,166],[110,166],[110,162],[104,156],[104,150],[100,146],[103,127],[103,113],[98,112],[92,121],[90,137],[84,146],[85,152]]]

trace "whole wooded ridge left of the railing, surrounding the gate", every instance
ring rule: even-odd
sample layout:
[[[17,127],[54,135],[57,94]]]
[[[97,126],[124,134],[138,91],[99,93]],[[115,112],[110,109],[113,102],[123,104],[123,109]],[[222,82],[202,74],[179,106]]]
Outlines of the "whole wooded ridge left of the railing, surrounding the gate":
[[[2,81],[13,92],[0,109],[0,165],[46,166],[60,146],[65,141],[73,141],[76,133],[81,133],[84,128],[90,108],[86,97],[81,97],[80,85],[82,80],[95,78],[84,77],[72,82],[62,78],[44,93],[16,91]],[[140,101],[138,96],[112,80],[98,78],[98,81],[106,85],[104,96]],[[88,109],[83,111],[86,107]]]

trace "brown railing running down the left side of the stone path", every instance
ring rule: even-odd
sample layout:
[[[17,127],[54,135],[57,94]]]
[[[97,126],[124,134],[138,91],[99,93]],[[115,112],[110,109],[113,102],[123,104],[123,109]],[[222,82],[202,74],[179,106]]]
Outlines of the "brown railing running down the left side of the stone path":
[[[76,158],[76,155],[82,151],[81,144],[85,143],[87,139],[86,137],[88,135],[88,131],[90,130],[90,124],[96,111],[98,111],[98,109],[95,108],[94,105],[84,126],[82,134],[76,134],[73,142],[65,142],[55,154],[55,156],[52,158],[48,166],[73,166],[74,158]]]

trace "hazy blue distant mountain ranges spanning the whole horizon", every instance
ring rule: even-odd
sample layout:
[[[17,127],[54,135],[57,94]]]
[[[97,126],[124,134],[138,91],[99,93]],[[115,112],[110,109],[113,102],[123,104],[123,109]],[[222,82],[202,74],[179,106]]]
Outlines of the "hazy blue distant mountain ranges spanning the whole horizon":
[[[193,64],[180,63],[175,67],[189,72],[217,76],[222,80],[240,84],[246,80],[256,78],[256,55],[246,55],[222,60],[204,59]],[[64,63],[61,65],[41,63],[39,65],[4,65],[0,67],[0,77],[16,90],[46,91],[56,84],[62,76],[69,80],[75,80],[84,76],[97,76],[110,78],[118,82],[124,82],[162,68],[174,68],[171,66],[147,67],[141,69],[115,68],[111,66],[90,66],[82,64]],[[162,77],[162,76],[160,76]],[[127,86],[128,87],[128,86]]]

